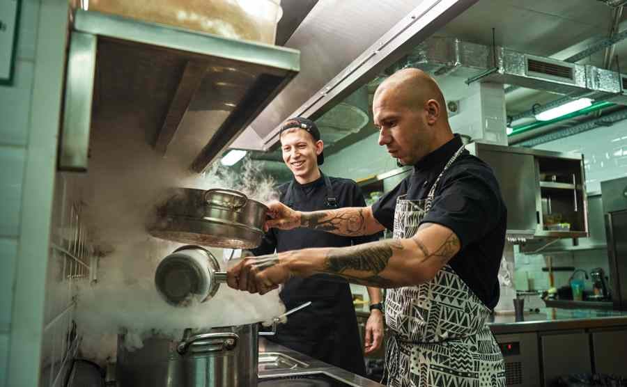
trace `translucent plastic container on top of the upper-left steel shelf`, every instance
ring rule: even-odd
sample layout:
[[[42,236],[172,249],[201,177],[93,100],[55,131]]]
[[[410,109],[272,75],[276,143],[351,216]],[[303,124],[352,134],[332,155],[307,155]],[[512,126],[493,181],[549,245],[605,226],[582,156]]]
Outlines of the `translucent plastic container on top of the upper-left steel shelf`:
[[[274,45],[281,0],[70,0],[72,6]]]

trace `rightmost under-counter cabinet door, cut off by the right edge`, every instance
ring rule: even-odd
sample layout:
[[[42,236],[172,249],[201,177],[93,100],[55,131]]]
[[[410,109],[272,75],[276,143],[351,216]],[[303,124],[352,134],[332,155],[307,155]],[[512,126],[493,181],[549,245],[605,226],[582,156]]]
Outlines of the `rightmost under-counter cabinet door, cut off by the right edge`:
[[[627,327],[591,331],[591,335],[596,373],[627,377]]]

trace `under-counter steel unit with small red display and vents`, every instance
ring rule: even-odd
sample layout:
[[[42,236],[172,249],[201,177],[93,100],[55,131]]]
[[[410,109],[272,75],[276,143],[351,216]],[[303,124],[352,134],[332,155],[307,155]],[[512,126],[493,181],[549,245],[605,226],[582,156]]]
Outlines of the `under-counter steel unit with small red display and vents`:
[[[540,363],[538,356],[538,335],[516,333],[495,335],[503,358],[507,386],[540,386]]]

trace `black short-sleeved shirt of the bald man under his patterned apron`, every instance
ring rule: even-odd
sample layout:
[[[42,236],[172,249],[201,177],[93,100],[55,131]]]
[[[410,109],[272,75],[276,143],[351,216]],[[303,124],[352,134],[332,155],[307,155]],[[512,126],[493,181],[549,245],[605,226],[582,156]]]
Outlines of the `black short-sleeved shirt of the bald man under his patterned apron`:
[[[392,230],[396,198],[403,194],[408,200],[426,198],[461,145],[456,135],[419,161],[410,176],[373,204],[375,218]],[[421,223],[438,223],[455,232],[461,248],[449,265],[488,308],[494,308],[499,300],[497,274],[505,244],[507,209],[490,166],[464,150],[442,175],[431,210]]]

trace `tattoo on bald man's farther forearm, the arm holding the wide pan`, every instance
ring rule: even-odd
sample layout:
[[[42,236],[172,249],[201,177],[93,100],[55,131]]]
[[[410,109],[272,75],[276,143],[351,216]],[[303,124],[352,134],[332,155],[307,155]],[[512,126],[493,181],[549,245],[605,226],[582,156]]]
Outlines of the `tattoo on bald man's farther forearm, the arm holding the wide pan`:
[[[339,235],[364,235],[366,232],[366,217],[364,209],[316,211],[302,214],[302,227],[334,232]]]

